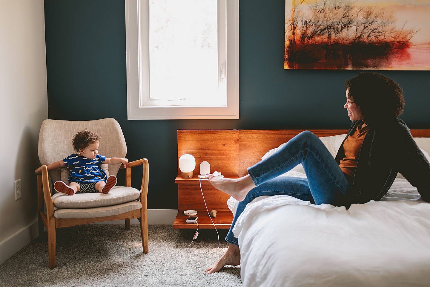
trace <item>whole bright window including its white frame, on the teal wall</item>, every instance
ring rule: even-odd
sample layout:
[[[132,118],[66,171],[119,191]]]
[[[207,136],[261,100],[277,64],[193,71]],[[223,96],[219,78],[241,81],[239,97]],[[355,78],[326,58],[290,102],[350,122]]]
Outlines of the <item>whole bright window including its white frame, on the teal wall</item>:
[[[239,1],[126,0],[127,111],[239,118]]]

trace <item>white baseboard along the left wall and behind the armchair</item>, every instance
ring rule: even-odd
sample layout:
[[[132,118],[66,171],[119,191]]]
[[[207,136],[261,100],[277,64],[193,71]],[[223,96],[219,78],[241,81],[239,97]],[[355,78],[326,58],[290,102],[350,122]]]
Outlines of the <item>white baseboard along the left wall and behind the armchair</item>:
[[[148,209],[148,224],[165,224],[173,225],[175,222],[177,209]],[[138,219],[131,219],[131,224],[140,224]],[[125,224],[124,220],[113,220],[96,222],[93,224]],[[25,226],[21,230],[15,232],[15,234],[9,236],[2,242],[0,242],[0,264],[5,262],[7,259],[12,257],[19,250],[24,248],[33,239],[39,236],[39,228],[37,219]]]

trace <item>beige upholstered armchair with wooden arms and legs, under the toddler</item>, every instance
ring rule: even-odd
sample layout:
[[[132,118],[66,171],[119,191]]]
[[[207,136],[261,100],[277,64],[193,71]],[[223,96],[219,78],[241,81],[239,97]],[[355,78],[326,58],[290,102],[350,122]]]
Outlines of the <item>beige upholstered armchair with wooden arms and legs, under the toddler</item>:
[[[140,221],[143,252],[148,253],[147,191],[149,166],[143,158],[129,162],[127,168],[121,164],[102,168],[107,175],[117,175],[125,169],[126,186],[115,186],[108,194],[83,193],[67,195],[51,193],[49,177],[52,182],[62,180],[68,183],[68,170],[62,167],[48,171],[46,166],[62,160],[74,150],[71,140],[78,131],[88,129],[101,137],[99,153],[106,157],[125,157],[126,142],[119,123],[112,119],[68,121],[44,120],[39,134],[38,154],[42,164],[37,174],[37,206],[39,216],[39,235],[48,233],[49,268],[55,268],[55,229],[92,222],[125,219],[126,229],[130,229],[130,219]],[[132,167],[143,165],[140,191],[131,187]],[[45,213],[46,207],[46,213]]]

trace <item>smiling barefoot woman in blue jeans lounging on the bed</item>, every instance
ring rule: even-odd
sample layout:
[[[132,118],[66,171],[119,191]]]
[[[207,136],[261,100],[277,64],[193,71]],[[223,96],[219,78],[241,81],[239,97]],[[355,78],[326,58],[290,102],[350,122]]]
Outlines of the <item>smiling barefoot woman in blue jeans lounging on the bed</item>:
[[[246,204],[261,195],[290,195],[313,204],[350,207],[378,201],[398,172],[430,201],[430,163],[416,145],[406,124],[397,117],[405,105],[399,85],[381,74],[360,73],[346,82],[344,108],[352,121],[335,158],[309,131],[291,139],[275,154],[248,168],[239,179],[207,175],[208,181],[239,202],[225,240],[226,253],[206,269],[240,264],[240,249],[233,227]],[[287,177],[302,164],[307,178]]]

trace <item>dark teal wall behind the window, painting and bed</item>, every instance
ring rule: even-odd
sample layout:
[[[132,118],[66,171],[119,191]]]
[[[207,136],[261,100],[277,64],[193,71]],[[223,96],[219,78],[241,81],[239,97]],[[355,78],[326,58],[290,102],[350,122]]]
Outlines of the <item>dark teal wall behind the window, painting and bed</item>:
[[[359,71],[284,70],[284,7],[240,1],[239,120],[127,120],[124,0],[45,0],[49,118],[118,120],[129,160],[149,160],[150,209],[178,208],[177,130],[349,128],[344,82]],[[429,129],[430,71],[381,74],[404,89],[401,118]]]

